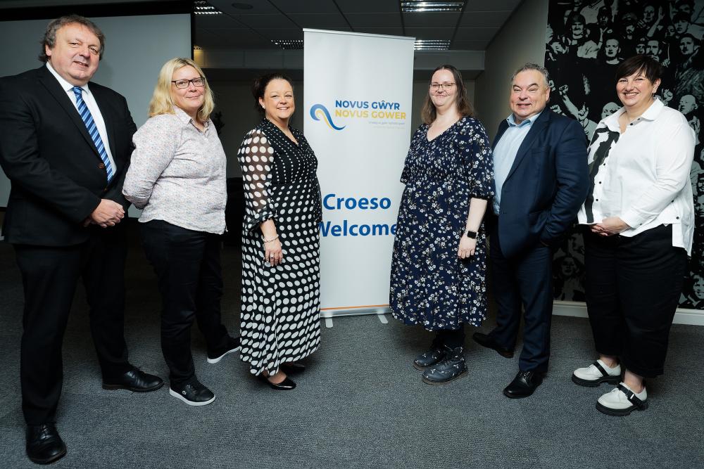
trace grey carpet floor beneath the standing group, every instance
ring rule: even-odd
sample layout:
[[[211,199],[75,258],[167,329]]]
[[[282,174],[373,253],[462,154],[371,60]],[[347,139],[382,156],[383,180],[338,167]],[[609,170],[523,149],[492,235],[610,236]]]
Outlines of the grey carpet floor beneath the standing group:
[[[166,376],[159,348],[156,278],[132,240],[127,284],[127,343],[133,364]],[[239,253],[223,251],[223,318],[237,333]],[[22,285],[13,250],[0,243],[0,467],[25,457],[20,411]],[[698,468],[704,467],[704,327],[675,325],[667,374],[648,382],[650,409],[604,416],[596,399],[610,389],[570,381],[593,359],[586,319],[556,316],[548,376],[529,399],[501,390],[517,358],[466,343],[465,378],[425,385],[411,366],[430,333],[390,316],[334,320],[306,359],[293,392],[249,376],[236,354],[206,363],[194,327],[196,373],[217,399],[190,407],[168,394],[101,389],[81,288],[63,345],[58,428],[70,468]],[[488,331],[493,319],[482,330]],[[474,332],[467,328],[468,337]]]

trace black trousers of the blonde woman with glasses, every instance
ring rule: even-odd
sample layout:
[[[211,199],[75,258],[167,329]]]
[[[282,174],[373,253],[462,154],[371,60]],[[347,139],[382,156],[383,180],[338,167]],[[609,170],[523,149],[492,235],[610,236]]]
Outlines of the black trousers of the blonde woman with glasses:
[[[144,252],[156,271],[161,292],[161,351],[175,385],[195,376],[191,355],[194,319],[208,351],[226,347],[230,337],[220,321],[220,238],[162,220],[142,224]]]

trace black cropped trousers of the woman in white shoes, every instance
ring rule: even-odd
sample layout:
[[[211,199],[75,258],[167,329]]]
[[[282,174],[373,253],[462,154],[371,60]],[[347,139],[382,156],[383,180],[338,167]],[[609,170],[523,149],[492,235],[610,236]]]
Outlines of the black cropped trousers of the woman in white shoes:
[[[687,256],[672,246],[672,225],[633,237],[584,230],[586,307],[600,354],[633,373],[662,374]]]

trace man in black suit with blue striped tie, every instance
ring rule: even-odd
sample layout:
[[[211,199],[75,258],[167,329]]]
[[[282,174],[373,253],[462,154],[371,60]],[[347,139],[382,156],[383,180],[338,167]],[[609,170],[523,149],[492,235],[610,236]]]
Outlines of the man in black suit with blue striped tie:
[[[44,34],[39,58],[46,64],[0,79],[0,164],[12,183],[3,233],[25,291],[20,382],[27,456],[35,463],[66,452],[54,423],[61,343],[79,278],[103,388],[163,385],[127,361],[122,181],[135,125],[125,98],[89,83],[103,45],[86,18],[58,18]]]

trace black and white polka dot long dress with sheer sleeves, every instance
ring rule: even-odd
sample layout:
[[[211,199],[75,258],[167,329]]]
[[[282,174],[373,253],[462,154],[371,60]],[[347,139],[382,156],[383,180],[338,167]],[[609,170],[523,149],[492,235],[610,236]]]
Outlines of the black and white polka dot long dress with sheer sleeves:
[[[241,359],[251,373],[277,373],[320,345],[320,184],[318,160],[264,119],[239,148],[246,214],[242,231]],[[264,260],[259,225],[272,219],[283,262]]]

